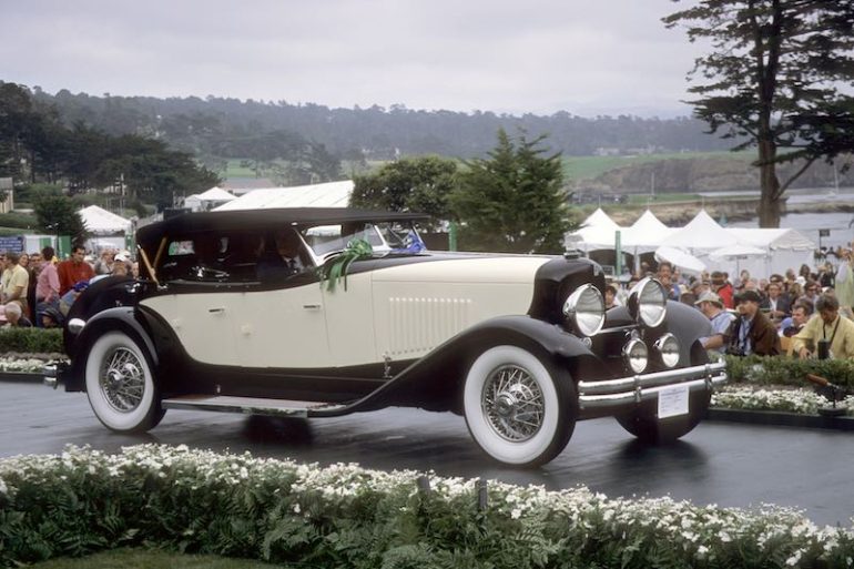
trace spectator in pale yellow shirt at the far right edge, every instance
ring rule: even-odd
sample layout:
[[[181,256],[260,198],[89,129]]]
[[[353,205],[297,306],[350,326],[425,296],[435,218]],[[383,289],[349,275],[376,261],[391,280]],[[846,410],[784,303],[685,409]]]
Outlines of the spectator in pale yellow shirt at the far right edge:
[[[815,301],[815,309],[817,314],[793,337],[795,354],[807,358],[817,353],[820,342],[826,342],[830,357],[854,357],[854,322],[840,315],[840,301],[823,294]]]

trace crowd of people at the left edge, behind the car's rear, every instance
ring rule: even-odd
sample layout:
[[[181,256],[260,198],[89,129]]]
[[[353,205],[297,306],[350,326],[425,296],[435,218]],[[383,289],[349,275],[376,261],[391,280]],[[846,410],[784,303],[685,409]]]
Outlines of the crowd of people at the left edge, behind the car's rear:
[[[105,276],[138,274],[130,252],[105,247],[94,258],[78,244],[64,261],[47,246],[29,254],[0,253],[0,308],[4,326],[10,327],[59,327],[90,283]]]

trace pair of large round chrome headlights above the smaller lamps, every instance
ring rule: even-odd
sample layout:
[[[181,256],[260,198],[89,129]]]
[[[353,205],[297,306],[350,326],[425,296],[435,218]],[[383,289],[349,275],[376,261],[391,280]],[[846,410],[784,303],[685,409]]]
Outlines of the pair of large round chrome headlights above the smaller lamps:
[[[645,277],[629,292],[627,307],[638,324],[655,328],[667,316],[668,296],[664,287],[651,277]],[[604,325],[604,299],[592,284],[576,288],[563,303],[563,315],[576,331],[584,336],[594,336]]]

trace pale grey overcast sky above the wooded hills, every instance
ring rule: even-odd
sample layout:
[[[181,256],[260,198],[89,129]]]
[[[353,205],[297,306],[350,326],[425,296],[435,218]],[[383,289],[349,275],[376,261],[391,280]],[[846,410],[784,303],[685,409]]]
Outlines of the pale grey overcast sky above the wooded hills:
[[[692,3],[691,1],[688,4]],[[687,115],[671,0],[0,0],[0,80],[55,93]]]

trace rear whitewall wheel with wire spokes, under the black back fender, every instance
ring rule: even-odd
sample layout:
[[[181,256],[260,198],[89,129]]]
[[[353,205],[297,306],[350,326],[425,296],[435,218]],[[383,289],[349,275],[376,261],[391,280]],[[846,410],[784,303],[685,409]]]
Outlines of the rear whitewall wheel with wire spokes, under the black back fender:
[[[144,433],[165,414],[143,348],[122,332],[109,332],[92,344],[85,380],[92,410],[111,430]]]

